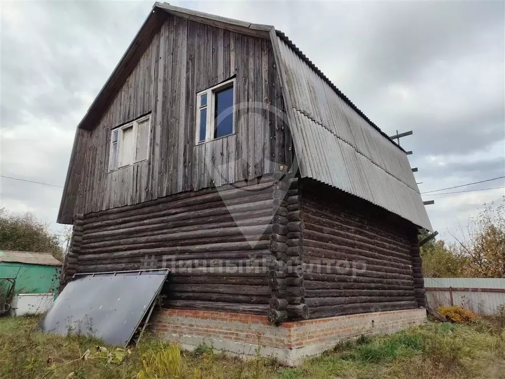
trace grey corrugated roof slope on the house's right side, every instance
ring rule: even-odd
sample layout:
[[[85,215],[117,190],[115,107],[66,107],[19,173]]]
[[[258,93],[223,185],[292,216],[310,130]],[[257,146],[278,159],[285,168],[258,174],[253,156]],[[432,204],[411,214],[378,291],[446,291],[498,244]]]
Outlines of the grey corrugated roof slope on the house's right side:
[[[432,230],[405,151],[279,31],[277,43],[302,177],[342,189]]]

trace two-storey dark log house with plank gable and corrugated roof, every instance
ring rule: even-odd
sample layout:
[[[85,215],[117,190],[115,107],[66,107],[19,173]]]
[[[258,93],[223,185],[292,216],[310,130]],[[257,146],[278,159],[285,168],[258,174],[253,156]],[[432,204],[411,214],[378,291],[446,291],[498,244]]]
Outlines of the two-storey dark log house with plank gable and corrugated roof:
[[[156,3],[78,125],[58,222],[64,281],[169,262],[169,309],[425,305],[406,152],[269,25]]]

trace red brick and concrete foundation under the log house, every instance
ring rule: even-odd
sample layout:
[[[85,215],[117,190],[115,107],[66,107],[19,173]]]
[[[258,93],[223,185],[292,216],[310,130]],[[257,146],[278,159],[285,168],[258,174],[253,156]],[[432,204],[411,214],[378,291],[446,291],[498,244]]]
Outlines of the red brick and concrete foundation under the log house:
[[[339,341],[394,333],[424,322],[424,308],[293,321],[280,326],[269,325],[266,316],[163,309],[153,315],[151,329],[185,350],[206,344],[226,353],[251,356],[261,346],[262,356],[296,365]]]

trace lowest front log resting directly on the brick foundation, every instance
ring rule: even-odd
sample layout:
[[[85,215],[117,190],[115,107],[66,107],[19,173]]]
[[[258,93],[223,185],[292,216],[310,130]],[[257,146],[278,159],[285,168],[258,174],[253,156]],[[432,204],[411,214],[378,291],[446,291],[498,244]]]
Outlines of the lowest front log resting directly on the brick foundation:
[[[165,299],[164,307],[177,309],[195,309],[205,311],[231,312],[231,313],[249,313],[265,315],[269,304],[241,304],[212,301],[196,300],[172,300]]]

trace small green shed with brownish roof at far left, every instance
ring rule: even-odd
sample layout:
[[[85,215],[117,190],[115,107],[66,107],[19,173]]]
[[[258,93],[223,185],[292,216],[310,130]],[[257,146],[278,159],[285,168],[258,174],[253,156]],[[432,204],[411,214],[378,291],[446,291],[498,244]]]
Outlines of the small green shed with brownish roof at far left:
[[[0,313],[45,311],[60,285],[61,267],[51,254],[0,250]]]

